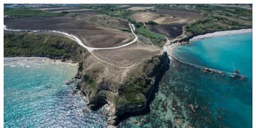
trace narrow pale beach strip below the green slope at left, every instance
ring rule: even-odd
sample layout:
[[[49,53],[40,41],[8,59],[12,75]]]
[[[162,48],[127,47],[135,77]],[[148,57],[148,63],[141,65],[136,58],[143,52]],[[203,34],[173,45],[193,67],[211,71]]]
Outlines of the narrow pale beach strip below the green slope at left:
[[[72,63],[71,60],[62,62],[60,59],[50,59],[47,57],[4,57],[4,63],[56,63],[56,64],[69,64],[78,66],[78,63]]]

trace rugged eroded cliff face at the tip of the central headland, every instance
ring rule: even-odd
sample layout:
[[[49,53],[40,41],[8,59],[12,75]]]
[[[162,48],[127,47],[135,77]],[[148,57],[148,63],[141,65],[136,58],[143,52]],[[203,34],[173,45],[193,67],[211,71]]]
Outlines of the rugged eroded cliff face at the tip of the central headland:
[[[82,64],[81,64],[82,65]],[[149,99],[169,67],[167,53],[144,60],[130,70],[116,69],[89,57],[79,68],[80,90],[91,109],[110,105],[108,123],[117,125],[124,115],[139,113],[147,108]]]

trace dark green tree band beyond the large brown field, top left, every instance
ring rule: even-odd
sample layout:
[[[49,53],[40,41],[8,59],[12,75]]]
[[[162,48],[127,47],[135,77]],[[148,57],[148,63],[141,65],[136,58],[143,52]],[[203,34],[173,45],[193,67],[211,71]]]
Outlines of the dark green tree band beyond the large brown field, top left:
[[[4,15],[56,17],[56,16],[64,16],[65,13],[44,12],[42,10],[30,10],[30,9],[11,9],[11,10],[5,10]]]

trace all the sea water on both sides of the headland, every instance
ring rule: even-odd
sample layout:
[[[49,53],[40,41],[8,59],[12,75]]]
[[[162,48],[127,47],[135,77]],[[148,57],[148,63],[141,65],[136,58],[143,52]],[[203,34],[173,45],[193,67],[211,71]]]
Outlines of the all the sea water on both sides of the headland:
[[[238,69],[247,79],[212,75],[171,60],[150,111],[118,127],[252,127],[252,33],[194,41],[179,46],[174,56],[208,68]],[[66,64],[4,63],[4,126],[106,127],[101,110],[89,110],[71,94],[75,83],[65,85],[76,72]]]

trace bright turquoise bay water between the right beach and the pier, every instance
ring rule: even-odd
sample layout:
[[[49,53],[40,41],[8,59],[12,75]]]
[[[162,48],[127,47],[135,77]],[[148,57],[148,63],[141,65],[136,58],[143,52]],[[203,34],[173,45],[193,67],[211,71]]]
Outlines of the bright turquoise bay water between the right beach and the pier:
[[[233,72],[238,69],[252,78],[252,33],[222,36],[193,41],[190,45],[179,46],[174,56],[181,60]]]

